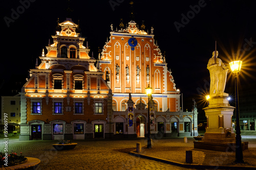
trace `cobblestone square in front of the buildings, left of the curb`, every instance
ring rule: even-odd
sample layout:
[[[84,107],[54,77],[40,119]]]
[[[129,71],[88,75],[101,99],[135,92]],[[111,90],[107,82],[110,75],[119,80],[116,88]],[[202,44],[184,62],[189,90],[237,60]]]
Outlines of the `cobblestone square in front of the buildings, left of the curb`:
[[[0,141],[0,151],[3,151],[5,145],[3,139]],[[129,155],[136,142],[145,144],[144,139],[75,142],[78,144],[74,150],[56,151],[52,144],[57,141],[10,139],[8,151],[40,159],[36,169],[187,169]]]

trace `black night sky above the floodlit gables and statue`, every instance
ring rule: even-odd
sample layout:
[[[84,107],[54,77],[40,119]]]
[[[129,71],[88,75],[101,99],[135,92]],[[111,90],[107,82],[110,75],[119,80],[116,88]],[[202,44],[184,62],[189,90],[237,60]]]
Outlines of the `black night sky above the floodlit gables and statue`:
[[[2,2],[1,44],[4,53],[0,63],[1,80],[8,80],[12,74],[26,75],[30,68],[34,68],[36,58],[41,56],[49,38],[53,42],[51,35],[56,34],[57,18],[62,22],[69,15],[66,2]],[[115,29],[121,18],[124,25],[131,20],[129,2],[70,1],[73,10],[70,17],[75,23],[79,19],[81,35],[86,37],[94,57],[98,56],[98,47],[102,49],[110,36],[111,23]],[[155,40],[161,52],[166,54],[176,87],[183,93],[184,109],[191,110],[193,98],[199,108],[205,106],[200,102],[200,95],[208,87],[206,66],[215,50],[215,41],[219,58],[226,66],[233,58],[243,61],[241,83],[255,82],[256,1],[147,0],[134,1],[133,6],[134,20],[139,27],[142,20],[148,32],[154,27]],[[19,14],[15,15],[17,11]],[[230,72],[228,75],[226,89],[233,86],[233,77]]]

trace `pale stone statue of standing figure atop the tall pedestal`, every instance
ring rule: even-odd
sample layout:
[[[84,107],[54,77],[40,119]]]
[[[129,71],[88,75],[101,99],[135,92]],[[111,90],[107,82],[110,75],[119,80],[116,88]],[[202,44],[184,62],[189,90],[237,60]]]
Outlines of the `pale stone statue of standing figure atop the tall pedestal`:
[[[227,67],[223,64],[218,57],[218,51],[212,53],[212,57],[209,59],[207,69],[210,72],[210,95],[224,92],[226,80],[227,80]]]

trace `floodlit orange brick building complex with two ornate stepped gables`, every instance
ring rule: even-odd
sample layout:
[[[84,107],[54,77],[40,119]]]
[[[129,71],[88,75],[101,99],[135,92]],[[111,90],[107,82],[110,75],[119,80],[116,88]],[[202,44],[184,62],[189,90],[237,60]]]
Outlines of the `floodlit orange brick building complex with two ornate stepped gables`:
[[[19,140],[143,137],[148,124],[156,136],[198,135],[196,104],[192,112],[180,109],[180,91],[153,28],[148,34],[133,20],[115,31],[111,25],[98,59],[79,32],[71,18],[58,23],[47,54],[30,70],[20,92]]]

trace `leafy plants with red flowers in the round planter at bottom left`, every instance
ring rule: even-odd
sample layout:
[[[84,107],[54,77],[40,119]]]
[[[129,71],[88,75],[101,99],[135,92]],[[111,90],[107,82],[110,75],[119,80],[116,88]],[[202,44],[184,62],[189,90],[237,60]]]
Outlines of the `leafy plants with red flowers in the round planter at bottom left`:
[[[22,155],[22,152],[20,152],[19,156],[15,152],[12,152],[9,155],[6,155],[6,153],[0,152],[0,167],[13,166],[13,165],[25,163],[27,160],[28,159]]]

